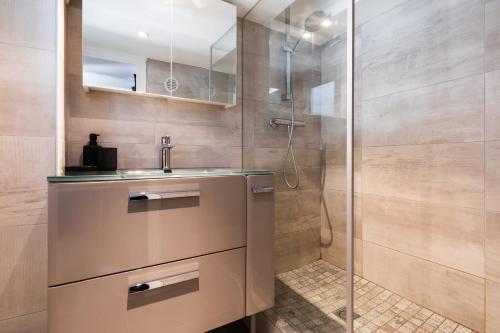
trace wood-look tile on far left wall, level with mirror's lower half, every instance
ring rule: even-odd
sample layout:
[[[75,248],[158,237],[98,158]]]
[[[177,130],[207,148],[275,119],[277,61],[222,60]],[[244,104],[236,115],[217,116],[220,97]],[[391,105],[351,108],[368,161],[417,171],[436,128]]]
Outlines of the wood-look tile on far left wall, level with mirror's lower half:
[[[0,43],[2,135],[54,135],[55,73],[53,51]]]

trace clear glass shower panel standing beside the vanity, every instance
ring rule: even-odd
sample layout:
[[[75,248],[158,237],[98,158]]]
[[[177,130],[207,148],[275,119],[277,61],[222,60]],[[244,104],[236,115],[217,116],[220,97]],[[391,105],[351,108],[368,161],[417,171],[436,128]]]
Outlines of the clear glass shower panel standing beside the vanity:
[[[243,167],[276,173],[276,306],[263,318],[345,332],[348,1],[269,3],[241,22]]]

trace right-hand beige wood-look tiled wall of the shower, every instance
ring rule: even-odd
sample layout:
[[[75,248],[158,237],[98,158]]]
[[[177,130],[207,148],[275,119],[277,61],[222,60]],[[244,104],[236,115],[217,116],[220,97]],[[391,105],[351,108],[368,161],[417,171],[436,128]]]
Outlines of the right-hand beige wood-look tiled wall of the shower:
[[[499,0],[357,3],[357,271],[487,332],[500,331],[499,17]],[[343,86],[345,57],[324,52]],[[322,257],[342,264],[327,241],[345,242],[345,121],[323,119],[322,138]]]

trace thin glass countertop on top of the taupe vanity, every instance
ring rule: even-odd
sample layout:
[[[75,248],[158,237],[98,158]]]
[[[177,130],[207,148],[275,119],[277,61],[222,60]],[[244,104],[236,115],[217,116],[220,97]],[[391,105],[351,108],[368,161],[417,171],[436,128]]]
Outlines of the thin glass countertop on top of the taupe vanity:
[[[165,173],[161,169],[142,170],[117,170],[117,171],[91,171],[91,172],[66,172],[60,176],[49,176],[49,183],[61,182],[95,182],[109,180],[134,180],[134,179],[162,179],[162,178],[187,178],[187,177],[214,177],[232,175],[269,175],[271,170],[260,169],[225,169],[225,168],[201,168],[201,169],[173,169],[171,173]]]

